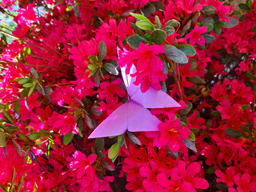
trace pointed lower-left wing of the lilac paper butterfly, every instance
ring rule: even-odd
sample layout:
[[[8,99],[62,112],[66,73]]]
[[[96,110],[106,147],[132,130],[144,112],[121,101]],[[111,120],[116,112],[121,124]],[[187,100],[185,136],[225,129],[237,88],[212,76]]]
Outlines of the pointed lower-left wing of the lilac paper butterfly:
[[[123,134],[128,127],[128,103],[114,110],[88,138],[104,138]]]

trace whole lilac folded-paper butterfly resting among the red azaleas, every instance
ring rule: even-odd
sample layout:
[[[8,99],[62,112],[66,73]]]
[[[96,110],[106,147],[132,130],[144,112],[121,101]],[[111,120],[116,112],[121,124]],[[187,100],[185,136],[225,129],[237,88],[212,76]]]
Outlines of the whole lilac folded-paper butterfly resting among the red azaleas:
[[[158,124],[161,122],[146,108],[178,107],[168,94],[162,90],[154,90],[150,87],[146,93],[142,93],[139,86],[134,85],[135,78],[130,74],[136,72],[133,65],[130,74],[126,74],[126,67],[121,68],[122,78],[128,92],[128,101],[114,110],[89,136],[89,138],[103,138],[117,136],[137,131],[158,131]]]

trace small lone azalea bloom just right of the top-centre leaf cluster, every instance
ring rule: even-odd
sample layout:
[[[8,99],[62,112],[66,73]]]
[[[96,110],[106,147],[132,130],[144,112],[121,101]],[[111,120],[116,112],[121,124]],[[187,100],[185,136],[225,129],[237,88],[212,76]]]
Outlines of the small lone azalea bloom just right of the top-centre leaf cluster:
[[[194,46],[196,43],[198,45],[203,46],[206,43],[206,40],[204,37],[202,37],[202,34],[205,34],[207,31],[207,26],[194,26],[194,29],[190,31],[189,34],[186,34],[186,38],[190,38],[190,45]]]

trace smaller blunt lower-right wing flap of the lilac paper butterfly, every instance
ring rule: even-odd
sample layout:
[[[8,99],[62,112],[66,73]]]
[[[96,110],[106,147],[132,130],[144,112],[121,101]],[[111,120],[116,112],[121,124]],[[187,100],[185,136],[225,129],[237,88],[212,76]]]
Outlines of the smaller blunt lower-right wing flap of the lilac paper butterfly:
[[[150,111],[136,102],[128,102],[128,130],[137,131],[158,131],[158,124],[161,121]]]

